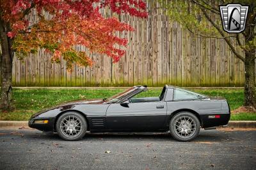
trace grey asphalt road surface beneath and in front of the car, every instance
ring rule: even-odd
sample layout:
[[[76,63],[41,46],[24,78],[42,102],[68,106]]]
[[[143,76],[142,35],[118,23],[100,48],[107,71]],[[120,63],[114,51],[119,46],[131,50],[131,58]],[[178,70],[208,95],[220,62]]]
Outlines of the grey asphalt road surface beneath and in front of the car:
[[[170,134],[86,134],[68,142],[38,130],[0,130],[0,169],[256,169],[256,130],[201,130],[189,143]]]

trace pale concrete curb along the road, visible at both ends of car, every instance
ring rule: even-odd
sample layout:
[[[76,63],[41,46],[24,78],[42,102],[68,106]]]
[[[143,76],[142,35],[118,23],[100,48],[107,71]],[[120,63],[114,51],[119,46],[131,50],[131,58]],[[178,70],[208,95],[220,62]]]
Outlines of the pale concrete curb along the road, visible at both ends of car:
[[[256,121],[229,121],[230,128],[256,128]],[[29,128],[28,121],[0,121],[0,128]]]

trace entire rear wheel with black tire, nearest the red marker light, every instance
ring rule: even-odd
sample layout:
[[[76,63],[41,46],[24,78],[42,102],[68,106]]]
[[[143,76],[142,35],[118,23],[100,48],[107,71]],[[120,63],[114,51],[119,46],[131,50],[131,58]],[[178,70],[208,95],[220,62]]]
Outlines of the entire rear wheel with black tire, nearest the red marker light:
[[[200,121],[191,112],[179,112],[170,121],[170,132],[177,141],[191,141],[200,132]]]

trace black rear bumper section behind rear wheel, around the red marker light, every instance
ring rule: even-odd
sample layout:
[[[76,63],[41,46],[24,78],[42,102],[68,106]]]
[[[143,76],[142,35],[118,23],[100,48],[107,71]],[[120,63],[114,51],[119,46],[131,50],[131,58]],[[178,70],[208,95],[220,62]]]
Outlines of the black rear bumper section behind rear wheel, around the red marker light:
[[[203,128],[227,125],[228,121],[230,120],[230,113],[218,114],[218,115],[220,115],[220,118],[209,118],[209,116],[212,116],[212,115],[215,115],[215,114],[201,114],[200,115]]]

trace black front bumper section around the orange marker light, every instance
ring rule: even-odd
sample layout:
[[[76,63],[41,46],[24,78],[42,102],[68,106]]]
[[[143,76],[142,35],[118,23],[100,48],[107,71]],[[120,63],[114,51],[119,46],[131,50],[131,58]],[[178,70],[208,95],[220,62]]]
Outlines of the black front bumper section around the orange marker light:
[[[48,120],[48,123],[35,123],[36,120]],[[30,118],[30,120],[28,121],[28,126],[45,132],[53,132],[54,123],[55,118]]]

